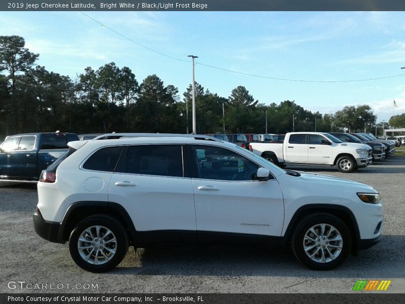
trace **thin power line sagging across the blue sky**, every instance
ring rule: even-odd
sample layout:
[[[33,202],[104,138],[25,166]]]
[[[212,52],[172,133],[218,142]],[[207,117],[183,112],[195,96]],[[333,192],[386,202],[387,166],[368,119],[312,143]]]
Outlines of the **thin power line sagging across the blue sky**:
[[[64,0],[61,0],[62,2],[66,3]],[[151,49],[143,44],[140,44],[139,42],[136,42],[135,40],[131,39],[130,37],[127,37],[126,35],[121,34],[120,32],[108,27],[107,25],[101,23],[100,21],[98,21],[97,19],[85,14],[82,11],[79,11],[76,9],[77,12],[79,12],[80,14],[85,15],[86,17],[88,17],[89,19],[93,20],[94,22],[97,22],[98,24],[100,24],[101,26],[104,26],[105,28],[109,29],[110,31],[116,33],[117,35],[120,35],[121,37],[137,44],[138,46],[141,46],[142,48],[145,48],[149,51],[152,51],[156,54],[159,54],[161,56],[165,56],[174,60],[178,60],[178,61],[183,61],[183,62],[190,62],[189,60],[184,60],[181,58],[176,58],[164,53],[161,53],[159,51],[156,51],[154,49]],[[257,78],[264,78],[264,79],[272,79],[272,80],[280,80],[280,81],[291,81],[291,82],[308,82],[308,83],[345,83],[345,82],[361,82],[361,81],[371,81],[371,80],[381,80],[381,79],[387,79],[387,78],[394,78],[394,77],[399,77],[399,76],[404,76],[405,74],[398,74],[398,75],[392,75],[392,76],[387,76],[387,77],[378,77],[378,78],[369,78],[369,79],[353,79],[353,80],[335,80],[335,81],[322,81],[322,80],[302,80],[302,79],[287,79],[287,78],[276,78],[276,77],[268,77],[268,76],[263,76],[263,75],[256,75],[256,74],[251,74],[251,73],[244,73],[244,72],[238,72],[238,71],[233,71],[233,70],[229,70],[226,68],[222,68],[222,67],[218,67],[218,66],[213,66],[213,65],[209,65],[209,64],[205,64],[205,63],[200,63],[200,62],[195,62],[195,65],[203,65],[203,66],[207,66],[207,67],[211,67],[211,68],[215,68],[218,70],[222,70],[222,71],[226,71],[226,72],[230,72],[230,73],[235,73],[235,74],[240,74],[240,75],[246,75],[246,76],[251,76],[251,77],[257,77]]]

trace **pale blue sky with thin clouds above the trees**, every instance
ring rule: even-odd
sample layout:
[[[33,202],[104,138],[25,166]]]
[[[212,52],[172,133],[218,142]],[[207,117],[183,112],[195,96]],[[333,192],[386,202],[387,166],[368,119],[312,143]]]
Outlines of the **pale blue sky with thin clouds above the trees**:
[[[405,112],[405,12],[83,13],[0,12],[0,35],[22,36],[37,64],[73,80],[115,62],[183,98],[195,55],[195,81],[222,97],[245,86],[260,103],[323,114],[369,104],[387,122]]]

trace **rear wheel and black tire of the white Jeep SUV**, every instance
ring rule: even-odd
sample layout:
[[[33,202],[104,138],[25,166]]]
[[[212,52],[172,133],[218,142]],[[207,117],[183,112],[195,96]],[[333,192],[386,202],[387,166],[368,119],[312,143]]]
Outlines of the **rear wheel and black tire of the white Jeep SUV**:
[[[80,236],[86,239],[85,242],[80,242],[81,250]],[[94,254],[96,249],[97,254]],[[93,273],[106,272],[116,267],[127,250],[128,236],[123,225],[119,220],[106,215],[93,215],[83,219],[75,226],[69,238],[69,251],[74,262],[80,268]],[[86,255],[89,257],[87,260]]]

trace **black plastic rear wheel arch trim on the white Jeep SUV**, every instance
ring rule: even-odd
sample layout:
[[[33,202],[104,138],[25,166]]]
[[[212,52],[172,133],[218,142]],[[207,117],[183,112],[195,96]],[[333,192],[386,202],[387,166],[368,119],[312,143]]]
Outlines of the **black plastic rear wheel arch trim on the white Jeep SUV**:
[[[134,245],[136,240],[136,229],[127,210],[125,210],[120,204],[102,201],[81,201],[71,204],[63,216],[58,239],[63,242],[67,241],[70,233],[80,220],[92,215],[103,214],[119,220],[128,233],[130,244]]]

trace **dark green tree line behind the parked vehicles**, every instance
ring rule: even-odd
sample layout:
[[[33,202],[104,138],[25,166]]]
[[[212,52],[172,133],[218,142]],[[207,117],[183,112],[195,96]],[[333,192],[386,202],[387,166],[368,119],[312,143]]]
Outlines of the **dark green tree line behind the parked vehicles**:
[[[165,85],[156,74],[139,83],[130,67],[114,62],[98,69],[89,66],[73,80],[36,65],[38,56],[25,48],[23,37],[0,36],[0,135],[56,130],[186,133],[187,107],[192,130],[191,84],[181,98],[178,88]],[[277,134],[292,131],[293,124],[295,131],[324,132],[374,131],[376,124],[368,105],[322,115],[290,100],[260,103],[244,86],[226,98],[195,83],[195,100],[199,134],[222,133],[224,125],[226,133],[264,133],[266,113],[268,133]]]

